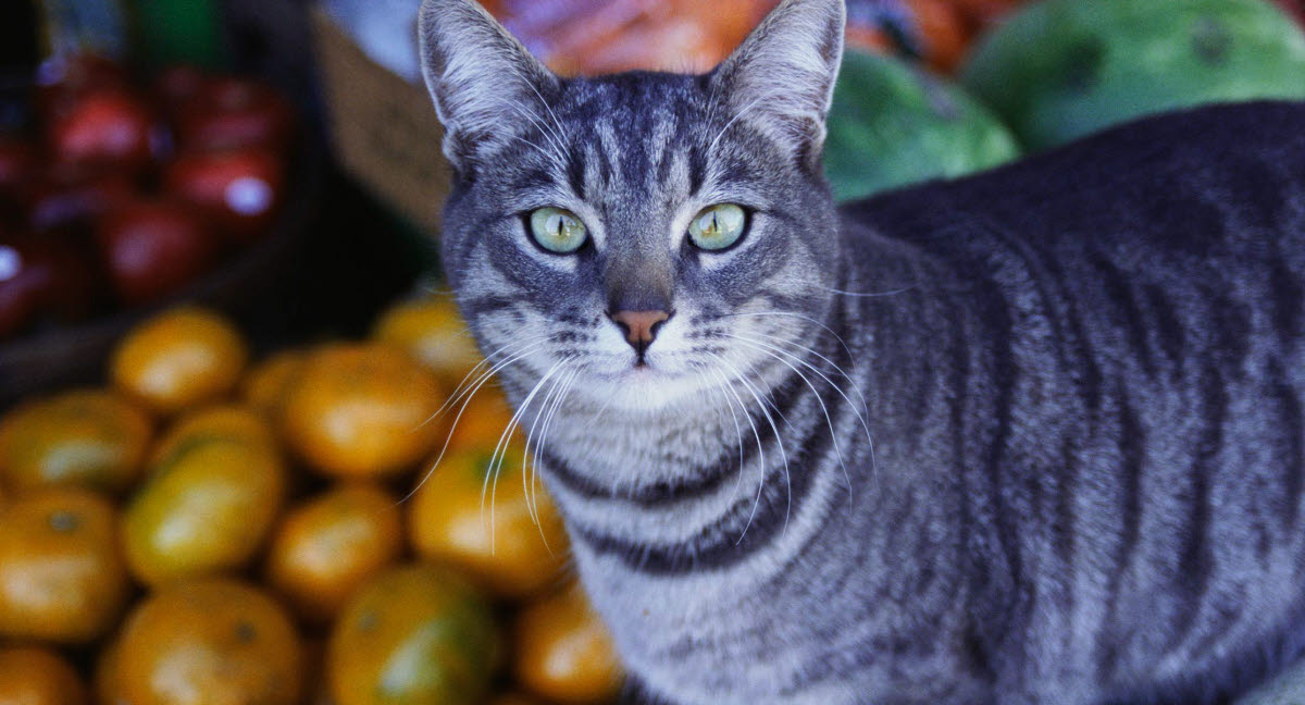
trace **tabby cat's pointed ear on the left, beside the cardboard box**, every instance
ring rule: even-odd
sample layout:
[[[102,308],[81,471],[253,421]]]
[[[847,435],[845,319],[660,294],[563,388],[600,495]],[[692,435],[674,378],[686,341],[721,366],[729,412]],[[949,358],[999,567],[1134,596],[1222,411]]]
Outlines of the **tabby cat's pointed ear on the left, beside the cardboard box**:
[[[422,74],[444,123],[444,154],[463,174],[515,140],[557,77],[474,0],[424,0]]]

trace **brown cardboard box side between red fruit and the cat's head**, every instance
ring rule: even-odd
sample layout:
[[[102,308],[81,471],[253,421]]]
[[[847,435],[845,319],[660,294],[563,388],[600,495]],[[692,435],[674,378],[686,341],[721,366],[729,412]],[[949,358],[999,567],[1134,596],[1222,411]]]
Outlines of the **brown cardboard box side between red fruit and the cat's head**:
[[[335,158],[380,201],[437,234],[450,170],[425,86],[372,61],[321,8],[311,18]]]

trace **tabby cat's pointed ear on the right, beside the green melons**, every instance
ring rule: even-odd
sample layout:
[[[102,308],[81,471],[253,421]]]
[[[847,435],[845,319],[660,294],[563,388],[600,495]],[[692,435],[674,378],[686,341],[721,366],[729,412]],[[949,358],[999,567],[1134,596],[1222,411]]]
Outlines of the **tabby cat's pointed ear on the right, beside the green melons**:
[[[711,74],[732,118],[817,171],[846,21],[843,0],[784,0]]]

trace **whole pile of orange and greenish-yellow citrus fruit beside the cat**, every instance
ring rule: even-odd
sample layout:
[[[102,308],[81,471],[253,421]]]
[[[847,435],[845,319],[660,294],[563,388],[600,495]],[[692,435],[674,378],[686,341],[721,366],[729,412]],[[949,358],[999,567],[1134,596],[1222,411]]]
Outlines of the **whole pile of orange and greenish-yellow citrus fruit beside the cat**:
[[[512,409],[462,393],[485,366],[446,296],[257,362],[176,308],[107,368],[0,418],[0,702],[615,698],[557,510],[500,446]]]

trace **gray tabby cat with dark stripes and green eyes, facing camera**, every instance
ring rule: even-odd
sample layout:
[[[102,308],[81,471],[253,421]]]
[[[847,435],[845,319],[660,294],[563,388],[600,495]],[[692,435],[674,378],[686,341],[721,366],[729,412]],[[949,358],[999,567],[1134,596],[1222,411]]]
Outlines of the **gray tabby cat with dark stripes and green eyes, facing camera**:
[[[654,701],[1201,702],[1305,646],[1305,106],[835,209],[839,0],[705,76],[427,0],[449,282]]]

